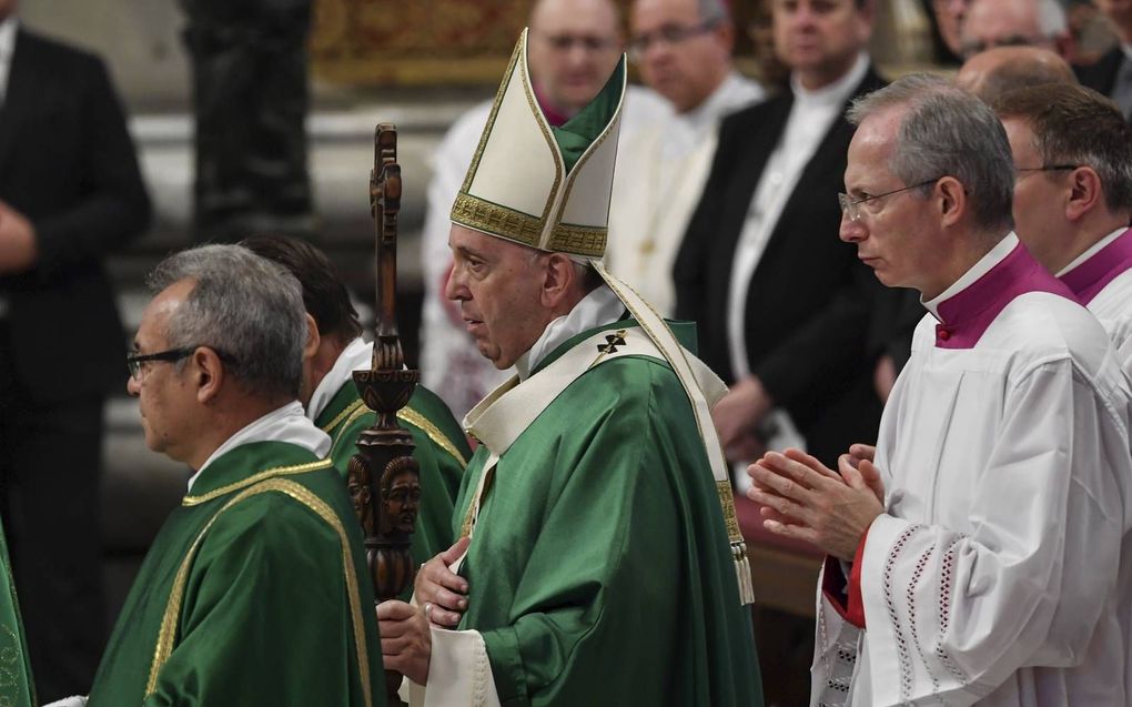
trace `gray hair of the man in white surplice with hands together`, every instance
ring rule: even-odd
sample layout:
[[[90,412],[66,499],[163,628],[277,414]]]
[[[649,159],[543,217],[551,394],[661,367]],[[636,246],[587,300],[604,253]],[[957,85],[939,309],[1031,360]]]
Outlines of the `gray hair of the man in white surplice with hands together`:
[[[1014,161],[990,106],[938,76],[911,74],[854,101],[847,114],[859,126],[869,115],[906,106],[889,171],[904,184],[953,176],[963,184],[975,223],[986,231],[1013,224]],[[932,184],[916,190],[931,193]]]

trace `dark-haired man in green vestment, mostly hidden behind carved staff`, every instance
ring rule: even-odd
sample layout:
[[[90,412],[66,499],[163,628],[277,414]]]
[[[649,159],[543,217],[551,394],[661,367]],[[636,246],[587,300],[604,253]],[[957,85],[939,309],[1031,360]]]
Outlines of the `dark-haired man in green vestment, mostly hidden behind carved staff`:
[[[306,241],[274,235],[250,238],[242,245],[278,262],[302,285],[314,330],[303,356],[300,399],[307,416],[331,436],[331,458],[345,478],[350,457],[358,451],[358,434],[377,417],[358,396],[351,376],[370,368],[374,345],[361,338],[358,312],[325,253]],[[453,543],[453,503],[472,451],[448,406],[423,386],[417,386],[397,419],[417,445],[413,457],[420,467],[421,497],[412,554],[420,564]],[[403,598],[411,595],[412,587],[406,587]]]

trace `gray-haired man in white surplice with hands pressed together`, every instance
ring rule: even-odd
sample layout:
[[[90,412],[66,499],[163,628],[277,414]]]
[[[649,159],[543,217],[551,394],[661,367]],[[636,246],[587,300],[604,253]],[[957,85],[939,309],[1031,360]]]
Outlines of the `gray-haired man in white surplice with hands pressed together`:
[[[875,465],[749,467],[767,529],[830,554],[812,704],[1123,705],[1130,391],[1107,337],[1010,232],[989,107],[917,75],[850,119],[841,238],[929,313]]]

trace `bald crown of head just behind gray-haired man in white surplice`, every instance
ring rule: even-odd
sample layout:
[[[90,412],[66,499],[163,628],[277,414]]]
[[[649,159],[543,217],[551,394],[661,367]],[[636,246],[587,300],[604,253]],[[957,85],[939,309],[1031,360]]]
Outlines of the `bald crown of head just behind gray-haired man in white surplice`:
[[[1003,94],[1046,84],[1077,84],[1069,62],[1037,46],[996,46],[963,62],[955,84],[986,103]]]

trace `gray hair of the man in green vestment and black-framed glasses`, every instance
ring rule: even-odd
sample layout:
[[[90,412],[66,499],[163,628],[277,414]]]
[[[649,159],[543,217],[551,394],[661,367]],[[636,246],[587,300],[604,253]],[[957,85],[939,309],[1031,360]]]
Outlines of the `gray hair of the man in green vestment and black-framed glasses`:
[[[165,258],[146,282],[156,294],[185,279],[195,285],[165,325],[169,346],[208,346],[249,391],[298,397],[307,340],[299,281],[242,245],[200,245]]]

